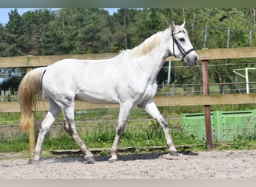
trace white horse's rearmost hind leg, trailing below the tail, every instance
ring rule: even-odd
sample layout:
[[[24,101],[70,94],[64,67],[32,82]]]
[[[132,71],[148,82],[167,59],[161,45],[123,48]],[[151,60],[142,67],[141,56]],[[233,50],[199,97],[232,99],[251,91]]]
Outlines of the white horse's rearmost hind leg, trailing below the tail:
[[[46,114],[46,117],[43,119],[41,124],[40,132],[37,137],[37,144],[34,149],[34,160],[31,160],[31,163],[39,162],[40,156],[43,150],[43,141],[45,139],[46,133],[49,132],[50,127],[55,122],[58,117],[58,114],[61,112],[61,108],[49,99],[50,109]]]

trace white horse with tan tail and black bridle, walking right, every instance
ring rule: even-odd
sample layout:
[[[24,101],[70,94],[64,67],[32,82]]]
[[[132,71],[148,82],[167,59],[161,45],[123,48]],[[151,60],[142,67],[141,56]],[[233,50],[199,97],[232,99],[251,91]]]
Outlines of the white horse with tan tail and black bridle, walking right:
[[[74,122],[75,99],[94,103],[118,103],[120,112],[115,140],[109,162],[118,160],[118,143],[124,132],[127,117],[133,106],[143,108],[155,118],[165,132],[168,153],[177,155],[169,125],[153,102],[156,93],[156,76],[168,56],[174,55],[190,66],[198,64],[198,55],[190,43],[183,25],[174,25],[148,37],[139,46],[125,50],[106,60],[64,59],[48,67],[28,72],[19,85],[20,126],[28,129],[33,110],[36,109],[37,93],[49,99],[49,112],[44,118],[37,138],[32,162],[38,162],[43,141],[58,114],[64,114],[64,129],[79,144],[85,159],[94,162],[94,155],[79,138]]]

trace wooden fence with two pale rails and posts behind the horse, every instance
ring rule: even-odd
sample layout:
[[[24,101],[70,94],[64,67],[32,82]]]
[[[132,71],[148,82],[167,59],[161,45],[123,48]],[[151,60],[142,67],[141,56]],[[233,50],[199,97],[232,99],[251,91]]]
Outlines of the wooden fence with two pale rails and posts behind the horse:
[[[156,96],[154,101],[158,106],[184,106],[184,105],[204,105],[206,122],[207,150],[213,148],[210,122],[210,105],[225,104],[253,104],[256,103],[256,94],[218,94],[210,95],[208,60],[231,59],[231,58],[256,58],[256,48],[230,48],[230,49],[202,49],[197,50],[202,61],[202,76],[204,85],[204,95],[199,96]],[[115,53],[90,54],[90,55],[51,55],[51,56],[21,56],[21,57],[1,57],[0,67],[43,67],[55,63],[64,58],[76,59],[106,59],[114,57]],[[169,57],[166,61],[179,61],[177,58]],[[96,105],[86,102],[76,101],[76,109],[89,108],[118,108],[118,105]],[[38,110],[48,110],[48,102],[40,102]],[[1,102],[0,112],[19,111],[18,102]],[[31,122],[30,129],[30,150],[34,150],[34,122]]]

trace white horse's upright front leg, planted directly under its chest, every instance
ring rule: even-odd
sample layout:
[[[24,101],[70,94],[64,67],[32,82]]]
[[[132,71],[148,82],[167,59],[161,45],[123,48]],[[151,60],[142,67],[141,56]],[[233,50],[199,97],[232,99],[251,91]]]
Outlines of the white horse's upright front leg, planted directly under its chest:
[[[112,145],[111,158],[109,159],[109,162],[118,161],[118,155],[117,155],[118,144],[119,144],[121,136],[124,133],[124,128],[127,123],[127,118],[129,116],[131,109],[132,109],[132,103],[123,103],[120,105],[118,126],[116,127],[115,140]]]

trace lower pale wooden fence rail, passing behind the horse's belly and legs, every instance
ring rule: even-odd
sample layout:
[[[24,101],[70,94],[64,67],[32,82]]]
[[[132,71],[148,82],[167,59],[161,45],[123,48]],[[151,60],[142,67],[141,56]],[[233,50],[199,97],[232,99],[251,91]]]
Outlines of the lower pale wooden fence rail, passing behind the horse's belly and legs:
[[[232,93],[216,95],[196,95],[196,96],[155,96],[153,98],[157,106],[189,106],[189,105],[237,105],[256,104],[255,93]],[[93,108],[119,108],[119,105],[94,104],[89,102],[76,101],[76,110],[86,110]],[[37,111],[49,110],[48,101],[39,101]],[[18,102],[1,102],[0,113],[19,112]]]

